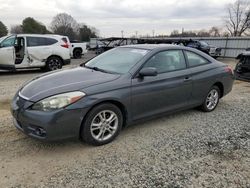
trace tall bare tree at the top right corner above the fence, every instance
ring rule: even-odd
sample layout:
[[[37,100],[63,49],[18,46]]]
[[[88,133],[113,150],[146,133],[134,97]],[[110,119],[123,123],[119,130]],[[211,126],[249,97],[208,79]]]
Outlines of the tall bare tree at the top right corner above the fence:
[[[229,4],[227,11],[227,30],[230,32],[231,36],[241,36],[250,28],[249,1],[237,0],[234,4]]]

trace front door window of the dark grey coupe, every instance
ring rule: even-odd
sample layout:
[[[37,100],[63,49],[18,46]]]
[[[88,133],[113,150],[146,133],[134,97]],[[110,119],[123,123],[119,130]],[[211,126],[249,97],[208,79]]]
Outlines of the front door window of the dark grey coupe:
[[[164,73],[185,69],[186,62],[182,50],[168,50],[151,57],[144,67],[155,67],[158,73]]]

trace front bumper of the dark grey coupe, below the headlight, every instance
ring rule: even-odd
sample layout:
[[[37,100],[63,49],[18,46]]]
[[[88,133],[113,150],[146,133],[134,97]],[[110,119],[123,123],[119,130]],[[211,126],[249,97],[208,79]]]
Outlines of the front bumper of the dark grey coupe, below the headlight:
[[[23,105],[18,106],[16,100],[13,100],[11,113],[15,127],[24,134],[46,141],[79,138],[82,120],[88,109],[64,108],[53,112],[42,112],[30,110],[29,101],[19,100],[23,101]]]

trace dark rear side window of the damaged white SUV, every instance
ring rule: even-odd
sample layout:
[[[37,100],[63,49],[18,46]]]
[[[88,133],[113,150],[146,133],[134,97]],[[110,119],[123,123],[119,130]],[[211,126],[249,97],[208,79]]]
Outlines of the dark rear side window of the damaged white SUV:
[[[27,46],[49,46],[55,44],[56,39],[46,37],[27,37]]]

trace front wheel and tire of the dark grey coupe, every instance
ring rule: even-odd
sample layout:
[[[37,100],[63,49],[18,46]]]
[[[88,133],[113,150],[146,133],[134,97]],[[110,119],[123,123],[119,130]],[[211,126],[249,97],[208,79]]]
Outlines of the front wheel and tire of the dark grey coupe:
[[[118,136],[122,124],[123,115],[117,106],[111,103],[100,104],[87,114],[80,135],[88,144],[104,145]]]

